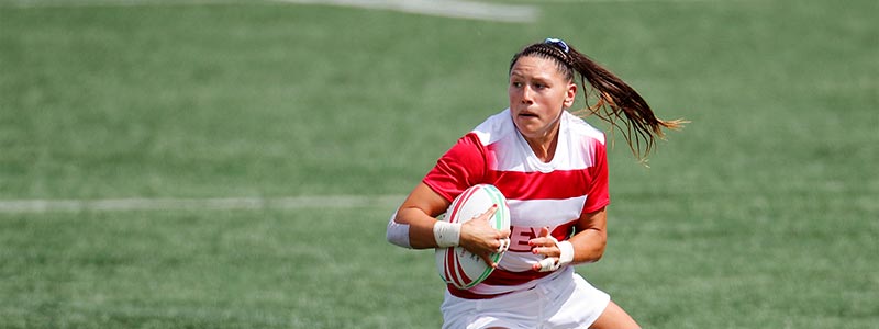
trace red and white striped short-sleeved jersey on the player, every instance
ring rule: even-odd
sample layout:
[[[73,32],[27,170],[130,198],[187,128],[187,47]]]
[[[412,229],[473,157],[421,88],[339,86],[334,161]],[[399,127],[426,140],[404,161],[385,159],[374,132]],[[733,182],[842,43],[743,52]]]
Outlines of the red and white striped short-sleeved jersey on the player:
[[[449,202],[467,188],[485,183],[496,185],[510,205],[512,242],[498,269],[470,290],[449,286],[453,295],[491,298],[550,280],[563,271],[533,271],[543,256],[531,252],[528,240],[542,227],[549,227],[559,241],[567,240],[581,214],[610,203],[604,134],[567,111],[559,123],[555,156],[543,162],[507,109],[458,139],[424,178]]]

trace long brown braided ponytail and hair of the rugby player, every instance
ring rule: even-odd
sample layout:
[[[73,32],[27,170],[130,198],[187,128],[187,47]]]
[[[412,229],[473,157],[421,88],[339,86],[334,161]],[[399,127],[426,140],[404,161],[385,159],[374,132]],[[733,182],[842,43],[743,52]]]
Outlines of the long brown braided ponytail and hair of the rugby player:
[[[683,120],[664,121],[656,117],[650,105],[632,87],[586,55],[568,46],[564,41],[547,38],[542,43],[526,46],[513,56],[510,61],[511,71],[519,58],[524,56],[555,60],[559,72],[571,81],[575,78],[574,72],[578,72],[580,84],[583,88],[586,107],[575,114],[581,116],[594,114],[620,129],[632,152],[639,160],[644,160],[646,155],[653,150],[656,138],[665,137],[661,128],[679,129],[685,123],[688,123]],[[591,90],[588,88],[590,86]],[[590,94],[598,99],[591,105],[589,104]],[[625,127],[617,123],[619,120],[623,121]],[[643,151],[642,147],[644,147]]]

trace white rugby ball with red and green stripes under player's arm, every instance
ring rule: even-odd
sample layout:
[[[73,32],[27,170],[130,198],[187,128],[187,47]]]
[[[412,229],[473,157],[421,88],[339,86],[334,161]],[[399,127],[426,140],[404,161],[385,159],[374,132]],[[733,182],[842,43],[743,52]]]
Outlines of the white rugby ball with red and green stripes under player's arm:
[[[510,206],[507,204],[507,197],[498,188],[489,184],[474,185],[465,190],[452,202],[446,213],[437,219],[464,224],[496,204],[498,211],[489,219],[489,225],[496,229],[510,228]],[[490,256],[496,263],[501,261],[501,257],[503,257],[502,252]],[[439,272],[439,277],[447,284],[459,290],[468,290],[485,281],[494,271],[494,268],[464,247],[450,247],[436,248],[436,270]]]

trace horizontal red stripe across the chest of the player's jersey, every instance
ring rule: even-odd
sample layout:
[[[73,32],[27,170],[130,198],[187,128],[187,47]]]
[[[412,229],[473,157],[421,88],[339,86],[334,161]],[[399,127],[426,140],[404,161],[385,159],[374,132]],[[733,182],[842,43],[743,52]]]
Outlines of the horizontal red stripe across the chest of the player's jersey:
[[[592,178],[586,169],[552,172],[490,171],[489,181],[508,200],[561,200],[583,196]]]

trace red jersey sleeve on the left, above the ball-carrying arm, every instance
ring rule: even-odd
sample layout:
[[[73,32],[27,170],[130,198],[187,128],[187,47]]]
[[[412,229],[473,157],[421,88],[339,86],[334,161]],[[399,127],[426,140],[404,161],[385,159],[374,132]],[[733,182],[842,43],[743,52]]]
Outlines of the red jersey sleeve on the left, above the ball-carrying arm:
[[[486,171],[485,147],[476,134],[470,133],[458,139],[422,181],[452,202],[464,190],[481,182]]]

